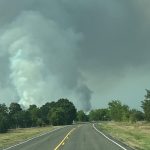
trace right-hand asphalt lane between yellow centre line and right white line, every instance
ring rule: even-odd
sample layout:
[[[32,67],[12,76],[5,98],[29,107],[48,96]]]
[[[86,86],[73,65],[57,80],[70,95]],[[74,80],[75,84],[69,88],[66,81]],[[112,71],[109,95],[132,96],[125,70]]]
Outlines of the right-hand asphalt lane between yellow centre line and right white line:
[[[98,133],[90,124],[78,127],[64,144],[63,150],[123,150],[112,143],[100,133]],[[124,150],[131,150],[124,148]]]

